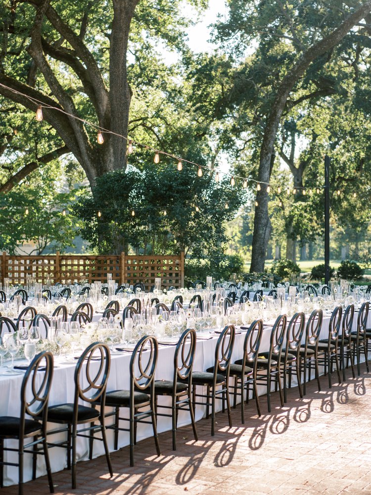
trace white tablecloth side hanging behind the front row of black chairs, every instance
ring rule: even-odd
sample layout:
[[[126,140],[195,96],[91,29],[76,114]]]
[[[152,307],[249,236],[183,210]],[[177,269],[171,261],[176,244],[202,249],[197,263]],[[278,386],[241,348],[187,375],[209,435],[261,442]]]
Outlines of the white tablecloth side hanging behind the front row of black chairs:
[[[357,318],[358,313],[355,313],[354,318],[354,330],[357,328]],[[328,335],[328,323],[329,315],[324,315],[323,324],[321,328],[320,338],[326,338]],[[370,316],[371,319],[371,316]],[[370,323],[370,322],[369,322]],[[272,326],[265,325],[263,329],[263,336],[260,350],[267,351],[270,346],[270,335]],[[245,332],[239,332],[235,336],[232,362],[239,359],[243,355],[243,342],[245,338]],[[214,364],[215,359],[215,347],[217,343],[218,335],[213,335],[210,339],[205,338],[197,339],[196,344],[196,355],[193,365],[194,371],[204,371],[209,366]],[[173,378],[173,363],[174,363],[174,350],[175,346],[159,346],[159,357],[156,370],[156,379],[172,380]],[[113,354],[111,356],[111,369],[108,379],[107,391],[117,390],[117,389],[128,389],[129,388],[129,364],[130,364],[131,353],[124,351],[119,354]],[[18,363],[17,363],[18,364]],[[91,363],[93,366],[98,366],[98,363]],[[63,362],[55,361],[54,376],[52,387],[49,395],[49,405],[54,405],[63,402],[73,402],[74,397],[74,371],[75,371],[76,361],[73,362]],[[42,373],[40,373],[42,375]],[[0,415],[1,416],[19,416],[20,412],[20,389],[23,379],[23,374],[18,374],[14,376],[7,376],[0,374],[0,396],[2,400],[0,402]],[[336,379],[335,379],[336,380]],[[263,394],[265,391],[264,387],[259,390],[259,395]],[[159,407],[162,400],[168,401],[169,397],[159,398]],[[221,401],[217,401],[218,410],[221,409]],[[261,404],[263,410],[266,407],[264,399]],[[255,407],[255,406],[254,406]],[[107,410],[110,410],[107,408]],[[125,409],[123,409],[122,416],[125,417]],[[161,411],[159,411],[161,412]],[[195,419],[200,420],[205,413],[205,407],[202,405],[196,406]],[[110,424],[110,420],[107,419],[107,424]],[[187,411],[179,412],[178,426],[184,426],[190,423],[189,413]],[[56,429],[58,425],[48,424],[48,430]],[[122,424],[123,427],[127,428],[128,423]],[[165,418],[162,416],[158,417],[158,432],[171,431],[171,418]],[[58,434],[60,439],[63,439],[62,434]],[[152,426],[150,424],[139,424],[138,425],[138,441],[144,438],[152,436]],[[50,437],[50,442],[56,440],[56,435]],[[110,450],[113,450],[113,430],[107,431],[108,446]],[[17,442],[7,441],[8,446],[12,444],[13,447],[17,448]],[[89,456],[89,446],[88,439],[78,438],[77,447],[77,459],[85,460]],[[129,434],[127,432],[119,433],[119,448],[129,445]],[[161,448],[161,440],[160,440]],[[155,446],[153,443],[153,454],[155,454]],[[102,442],[95,441],[93,449],[93,457],[103,455],[103,445]],[[5,452],[5,461],[17,462],[16,452]],[[59,447],[49,448],[50,463],[52,472],[60,471],[67,467],[66,462],[66,450]],[[122,469],[125,470],[126,465],[123,464]],[[79,469],[79,466],[78,466]],[[43,476],[46,474],[44,456],[38,456],[37,464],[37,476]],[[25,454],[24,456],[24,481],[29,481],[32,477],[32,456],[30,454]],[[18,480],[18,468],[13,466],[4,466],[4,486],[14,485]]]

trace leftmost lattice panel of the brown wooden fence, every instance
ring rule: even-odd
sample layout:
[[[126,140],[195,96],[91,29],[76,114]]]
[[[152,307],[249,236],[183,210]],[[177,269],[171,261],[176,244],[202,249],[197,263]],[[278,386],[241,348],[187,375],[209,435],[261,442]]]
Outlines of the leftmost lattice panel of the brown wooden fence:
[[[2,257],[2,262],[4,257]],[[1,272],[11,284],[26,284],[26,275],[34,276],[36,282],[45,284],[47,277],[55,283],[55,256],[6,256],[5,267]]]

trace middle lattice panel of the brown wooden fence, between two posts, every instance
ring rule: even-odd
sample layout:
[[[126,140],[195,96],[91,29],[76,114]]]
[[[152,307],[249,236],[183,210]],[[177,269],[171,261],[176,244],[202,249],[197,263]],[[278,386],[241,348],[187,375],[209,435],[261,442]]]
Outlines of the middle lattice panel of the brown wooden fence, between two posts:
[[[79,256],[62,255],[59,257],[59,279],[62,284],[68,280],[80,282],[107,282],[107,273],[112,279],[121,283],[120,256]]]

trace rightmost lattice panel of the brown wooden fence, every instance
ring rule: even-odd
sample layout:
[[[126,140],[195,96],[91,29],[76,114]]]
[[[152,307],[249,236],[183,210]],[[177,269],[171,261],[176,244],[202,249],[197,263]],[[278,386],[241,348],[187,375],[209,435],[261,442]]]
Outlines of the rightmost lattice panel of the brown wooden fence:
[[[183,287],[181,256],[125,256],[124,270],[127,284],[142,282],[146,290],[154,285],[158,277],[161,277],[161,285],[164,287]]]

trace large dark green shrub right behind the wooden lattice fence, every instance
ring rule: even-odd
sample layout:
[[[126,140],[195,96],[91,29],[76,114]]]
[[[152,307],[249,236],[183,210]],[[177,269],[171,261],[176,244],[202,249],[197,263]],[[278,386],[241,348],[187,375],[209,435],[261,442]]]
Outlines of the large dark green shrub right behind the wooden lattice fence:
[[[161,162],[99,177],[93,193],[85,190],[75,206],[84,220],[82,236],[99,253],[185,251],[202,259],[223,252],[225,222],[244,195],[227,177],[216,183],[209,174],[198,177],[196,172],[187,165],[178,172],[173,163]]]

